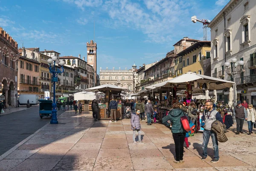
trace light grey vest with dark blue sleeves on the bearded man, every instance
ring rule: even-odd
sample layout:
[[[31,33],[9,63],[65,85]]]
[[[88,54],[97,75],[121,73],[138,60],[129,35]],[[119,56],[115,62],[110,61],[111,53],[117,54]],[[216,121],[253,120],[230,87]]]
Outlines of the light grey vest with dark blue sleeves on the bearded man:
[[[221,114],[214,108],[211,111],[205,110],[201,120],[205,122],[204,129],[207,131],[211,130],[212,123],[215,120],[219,120],[221,123],[223,123]]]

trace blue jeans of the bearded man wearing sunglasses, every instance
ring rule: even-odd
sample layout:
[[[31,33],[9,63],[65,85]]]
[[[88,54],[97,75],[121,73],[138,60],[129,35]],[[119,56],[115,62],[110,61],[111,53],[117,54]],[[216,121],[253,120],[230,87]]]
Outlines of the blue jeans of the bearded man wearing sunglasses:
[[[219,155],[218,155],[218,140],[217,140],[217,135],[213,131],[208,131],[204,130],[203,133],[203,156],[207,157],[207,145],[210,140],[210,137],[212,137],[212,145],[213,145],[213,150],[214,150],[214,158],[219,160]]]

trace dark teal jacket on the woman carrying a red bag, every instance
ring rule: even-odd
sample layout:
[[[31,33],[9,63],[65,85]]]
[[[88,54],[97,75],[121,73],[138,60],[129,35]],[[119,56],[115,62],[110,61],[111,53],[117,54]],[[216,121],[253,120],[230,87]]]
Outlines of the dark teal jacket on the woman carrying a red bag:
[[[163,117],[162,123],[169,127],[171,124],[168,123],[168,120],[172,123],[172,133],[184,133],[186,132],[180,122],[180,117],[186,116],[184,111],[181,109],[172,109],[170,113]]]

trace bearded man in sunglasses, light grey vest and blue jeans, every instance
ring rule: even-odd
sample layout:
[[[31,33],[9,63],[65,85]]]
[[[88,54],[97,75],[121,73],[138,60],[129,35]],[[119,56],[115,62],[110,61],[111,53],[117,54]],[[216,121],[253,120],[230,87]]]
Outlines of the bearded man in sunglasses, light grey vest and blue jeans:
[[[214,149],[214,159],[211,160],[211,162],[218,162],[219,161],[219,154],[218,154],[218,140],[217,135],[214,131],[211,131],[212,123],[215,120],[219,120],[221,123],[223,123],[221,114],[213,108],[212,101],[207,101],[205,104],[206,110],[203,113],[203,116],[201,118],[202,123],[205,123],[204,125],[204,132],[203,132],[203,157],[201,160],[205,160],[207,157],[207,145],[210,140],[210,137],[212,137],[212,145]]]

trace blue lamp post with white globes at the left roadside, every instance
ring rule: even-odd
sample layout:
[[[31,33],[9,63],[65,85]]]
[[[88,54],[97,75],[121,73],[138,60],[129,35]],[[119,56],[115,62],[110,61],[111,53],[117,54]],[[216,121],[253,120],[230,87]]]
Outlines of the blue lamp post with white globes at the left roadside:
[[[58,81],[58,73],[64,72],[64,64],[65,62],[63,60],[60,61],[61,69],[55,68],[55,62],[58,58],[56,56],[53,56],[52,59],[49,58],[47,60],[47,63],[49,63],[49,71],[52,73],[52,82],[53,82],[53,103],[52,103],[52,119],[50,121],[51,124],[58,124],[57,120],[57,111],[56,111],[56,103],[55,103],[55,82]],[[53,65],[52,65],[53,62]]]

